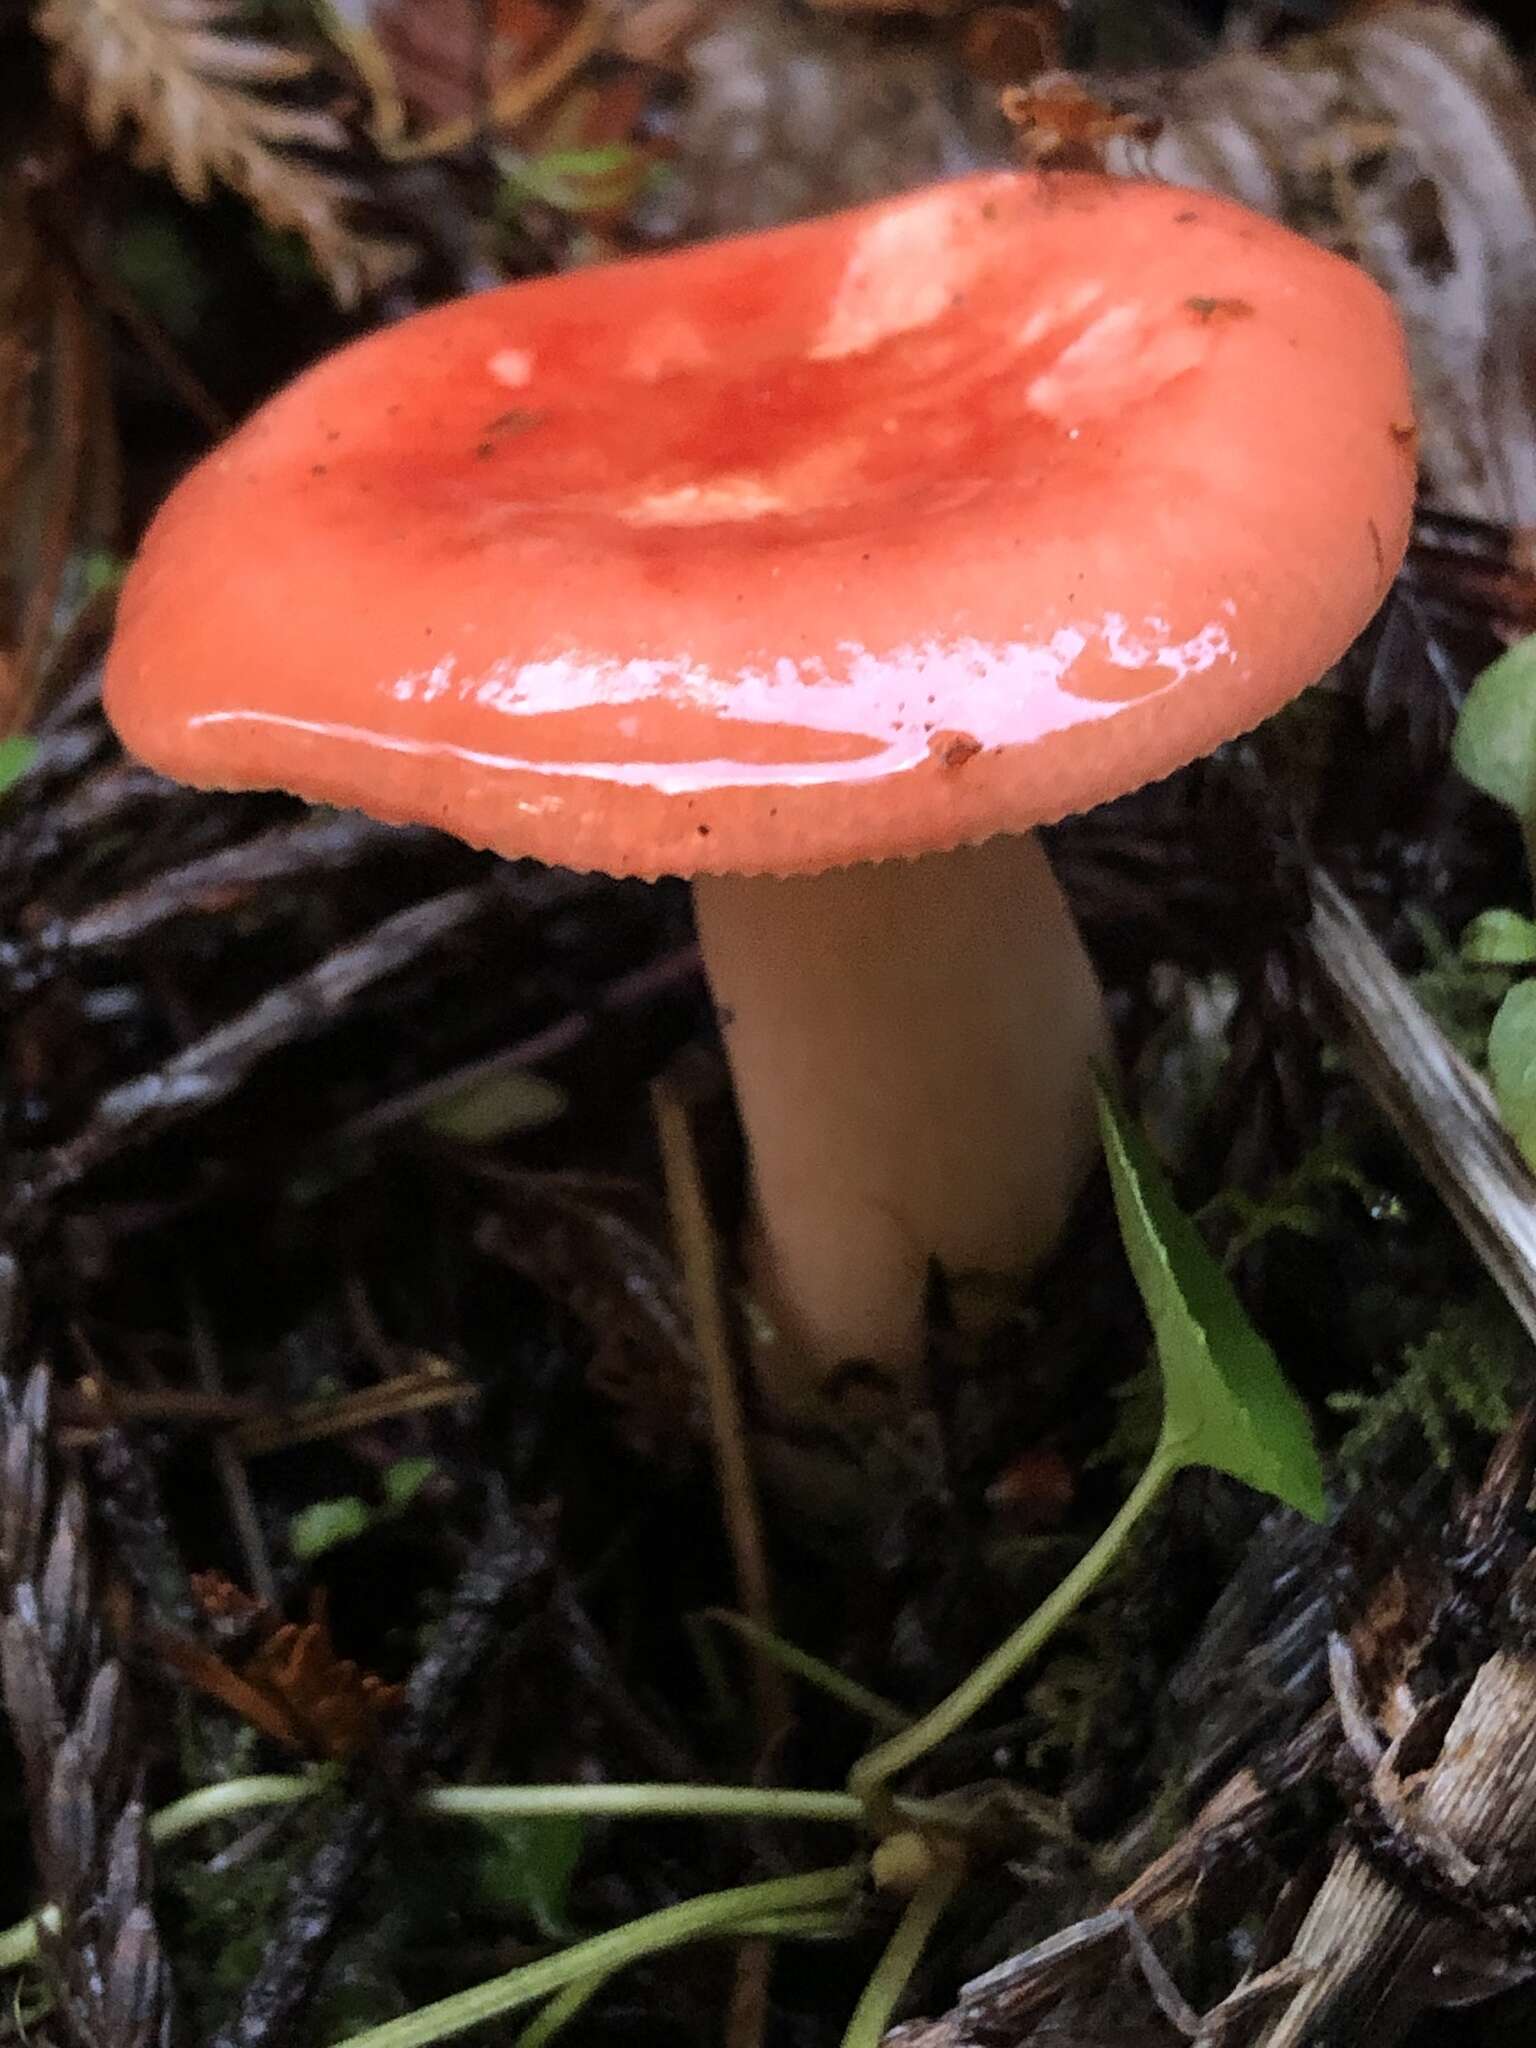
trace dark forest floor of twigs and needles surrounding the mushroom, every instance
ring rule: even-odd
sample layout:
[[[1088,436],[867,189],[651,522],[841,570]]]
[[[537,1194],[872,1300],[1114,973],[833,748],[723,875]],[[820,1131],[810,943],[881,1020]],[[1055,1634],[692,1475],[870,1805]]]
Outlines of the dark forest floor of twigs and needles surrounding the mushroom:
[[[100,715],[113,592],[174,477],[338,340],[1004,160],[1020,51],[1194,66],[1212,23],[1171,0],[872,25],[647,0],[604,10],[594,49],[588,14],[545,0],[338,6],[330,39],[322,12],[0,8],[0,502],[20,508],[0,662],[27,727],[0,754],[0,2038],[406,2048],[449,2021],[389,2021],[465,1987],[784,1884],[721,1921],[735,1939],[596,1956],[575,1989],[549,1980],[545,2019],[530,2003],[475,2038],[537,2044],[565,2013],[584,2048],[831,2048],[903,1909],[854,1866],[846,1815],[465,1819],[428,1794],[836,1792],[870,1726],[958,1686],[1157,1440],[1108,1180],[985,1337],[963,1303],[940,1313],[920,1413],[852,1380],[786,1430],[748,1395],[774,1630],[813,1661],[764,1743],[657,1143],[664,1083],[729,1243],[739,1139],[686,891],[172,786]],[[1341,12],[1255,6],[1249,43]],[[315,68],[289,78],[295,53]],[[301,154],[279,104],[319,123]],[[207,197],[205,170],[227,174]],[[1083,1937],[1049,1991],[956,2001],[1171,1855],[1137,1911],[1188,2005],[1217,2007],[1284,1960],[1339,1829],[1364,1827],[1366,1708],[1329,1634],[1366,1706],[1399,1665],[1423,1706],[1434,1665],[1448,1714],[1511,1655],[1536,1190],[1499,1151],[1497,1200],[1468,1192],[1464,1128],[1413,1087],[1446,1047],[1485,1065],[1526,965],[1464,944],[1530,911],[1530,877],[1516,821],[1450,764],[1466,686],[1536,629],[1524,545],[1495,510],[1427,504],[1323,686],[1051,834],[1126,1098],[1307,1405],[1329,1513],[1184,1475],[1040,1659],[909,1774],[903,1796],[965,1817],[901,1993],[897,2017],[932,2019],[913,2042],[1178,2038],[1122,1931]],[[1343,973],[1319,870],[1370,934],[1346,934]],[[1372,1036],[1350,973],[1411,1006],[1405,1032]],[[1460,1114],[1501,1145],[1483,1098]],[[219,1786],[225,1804],[178,1804]],[[1530,2032],[1536,1855],[1507,1847],[1493,1896],[1376,1843],[1425,1925],[1473,1929],[1477,1991],[1497,1991],[1417,2040]],[[807,1872],[836,1876],[817,1894]],[[27,1925],[39,1901],[61,1933]],[[1329,2042],[1395,2038],[1446,1989],[1386,1976]]]

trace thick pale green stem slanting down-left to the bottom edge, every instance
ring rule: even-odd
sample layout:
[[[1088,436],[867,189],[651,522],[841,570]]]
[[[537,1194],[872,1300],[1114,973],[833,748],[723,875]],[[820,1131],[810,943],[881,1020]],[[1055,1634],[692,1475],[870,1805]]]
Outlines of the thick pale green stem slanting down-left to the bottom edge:
[[[623,1970],[627,1964],[639,1962],[641,1956],[655,1956],[662,1950],[711,1935],[735,1935],[743,1921],[756,1921],[764,1913],[838,1905],[852,1898],[860,1874],[860,1864],[840,1864],[831,1870],[807,1870],[797,1878],[770,1878],[766,1884],[737,1884],[727,1892],[705,1892],[702,1898],[686,1898],[678,1907],[647,1913],[625,1927],[592,1935],[590,1942],[575,1942],[557,1956],[524,1962],[516,1970],[492,1976],[451,1999],[438,1999],[434,2005],[422,2005],[399,2019],[387,2019],[381,2028],[350,2034],[338,2048],[430,2048],[432,2042],[449,2040],[485,2019],[500,2019],[502,2013],[512,2013],[520,2005],[537,2005],[539,1999],[549,1999],[582,1978]]]

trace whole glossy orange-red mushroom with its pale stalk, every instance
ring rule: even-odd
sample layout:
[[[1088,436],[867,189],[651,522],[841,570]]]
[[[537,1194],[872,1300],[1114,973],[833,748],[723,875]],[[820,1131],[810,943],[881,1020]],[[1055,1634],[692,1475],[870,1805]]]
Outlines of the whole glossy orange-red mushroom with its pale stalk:
[[[1104,1012],[1032,827],[1321,676],[1411,492],[1364,272],[999,172],[344,348],[172,494],[106,705],[188,782],[692,877],[760,1370],[915,1384],[932,1262],[1024,1272],[1092,1161]]]

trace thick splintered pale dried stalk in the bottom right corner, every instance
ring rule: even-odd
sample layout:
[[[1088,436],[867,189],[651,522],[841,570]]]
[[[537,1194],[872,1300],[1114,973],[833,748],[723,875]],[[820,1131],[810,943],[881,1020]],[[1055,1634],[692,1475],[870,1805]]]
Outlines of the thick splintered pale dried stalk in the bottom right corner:
[[[1352,1640],[1333,1645],[1341,1763],[1360,1780],[1354,1833],[1290,1944],[1298,1989],[1255,2048],[1395,2048],[1425,2009],[1489,1997],[1536,1968],[1534,1468],[1528,1409],[1440,1552],[1407,1561],[1436,1595],[1423,1638],[1397,1640],[1399,1579],[1384,1614],[1366,1610]],[[1446,1673],[1470,1649],[1458,1692]],[[1434,1673],[1442,1686],[1423,1696]]]

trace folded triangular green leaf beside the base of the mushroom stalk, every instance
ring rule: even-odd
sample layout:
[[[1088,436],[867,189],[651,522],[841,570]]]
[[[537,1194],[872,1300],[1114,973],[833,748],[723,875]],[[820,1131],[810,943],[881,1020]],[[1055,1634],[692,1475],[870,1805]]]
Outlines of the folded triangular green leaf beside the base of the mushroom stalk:
[[[1151,1145],[1104,1090],[1100,1128],[1120,1237],[1163,1376],[1155,1460],[1208,1464],[1321,1520],[1323,1473],[1307,1409],[1174,1200]]]

